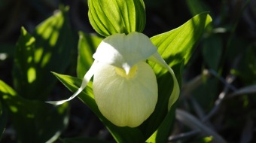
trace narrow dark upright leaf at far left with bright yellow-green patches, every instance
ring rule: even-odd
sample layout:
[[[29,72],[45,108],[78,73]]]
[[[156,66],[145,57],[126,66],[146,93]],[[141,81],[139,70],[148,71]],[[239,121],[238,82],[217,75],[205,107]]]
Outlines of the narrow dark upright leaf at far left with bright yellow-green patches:
[[[23,27],[20,32],[14,57],[14,86],[21,95],[29,96],[29,89],[36,88],[35,38]]]

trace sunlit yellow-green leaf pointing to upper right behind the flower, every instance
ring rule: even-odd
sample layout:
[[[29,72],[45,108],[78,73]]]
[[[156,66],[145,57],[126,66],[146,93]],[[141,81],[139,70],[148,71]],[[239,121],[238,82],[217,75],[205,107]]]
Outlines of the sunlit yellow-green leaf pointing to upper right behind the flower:
[[[169,63],[169,66],[176,65],[184,59],[187,64],[195,47],[200,41],[205,27],[212,21],[208,13],[201,13],[188,20],[177,29],[156,35],[151,41],[158,47],[158,52]],[[151,63],[158,76],[167,72],[165,68]]]

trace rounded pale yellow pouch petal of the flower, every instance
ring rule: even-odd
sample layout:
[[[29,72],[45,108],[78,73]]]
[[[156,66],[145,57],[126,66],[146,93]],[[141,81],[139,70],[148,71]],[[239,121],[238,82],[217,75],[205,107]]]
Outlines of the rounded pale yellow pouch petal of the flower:
[[[146,62],[126,75],[122,68],[101,63],[93,78],[93,94],[99,111],[117,126],[139,126],[157,104],[157,79]]]

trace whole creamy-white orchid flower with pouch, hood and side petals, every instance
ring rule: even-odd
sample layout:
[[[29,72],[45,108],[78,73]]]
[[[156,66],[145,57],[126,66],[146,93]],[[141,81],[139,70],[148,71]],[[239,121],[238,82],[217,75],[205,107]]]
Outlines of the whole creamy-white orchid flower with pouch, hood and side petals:
[[[48,103],[60,105],[75,98],[94,75],[93,95],[104,117],[117,126],[139,126],[157,104],[157,79],[146,59],[163,65],[172,74],[174,87],[168,108],[178,99],[179,87],[172,68],[142,33],[115,34],[105,38],[93,58],[95,61],[84,75],[78,91],[69,99]]]

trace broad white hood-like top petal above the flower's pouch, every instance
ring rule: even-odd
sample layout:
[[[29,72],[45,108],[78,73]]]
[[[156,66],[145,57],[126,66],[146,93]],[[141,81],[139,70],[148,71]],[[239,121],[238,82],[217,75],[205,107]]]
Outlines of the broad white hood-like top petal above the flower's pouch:
[[[148,59],[156,51],[157,47],[146,35],[131,32],[128,35],[115,34],[105,38],[93,58],[123,68],[128,74],[134,64]]]

